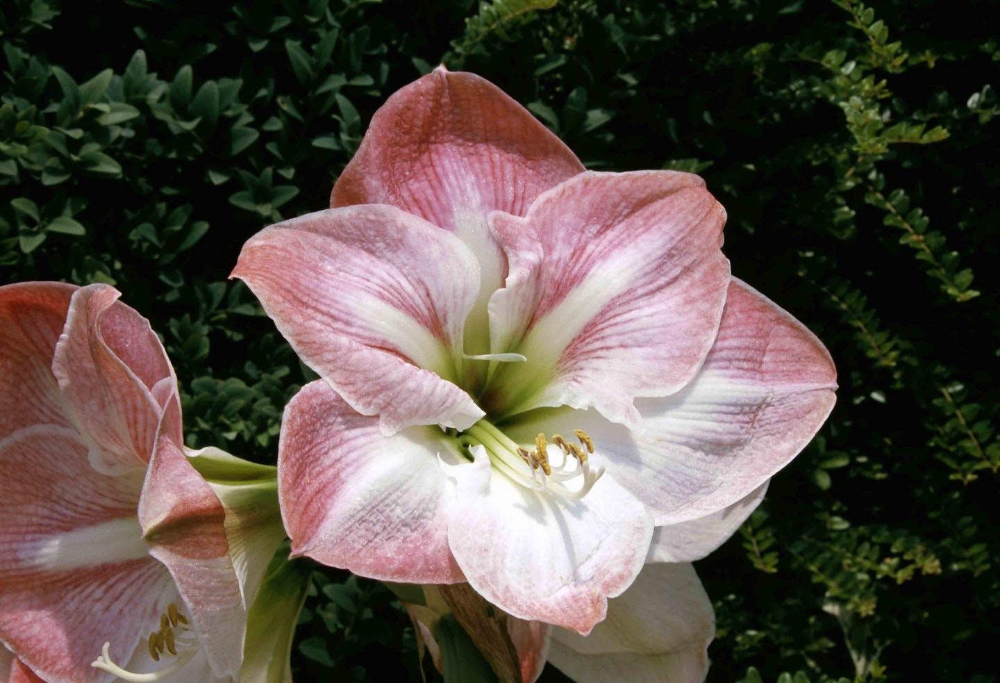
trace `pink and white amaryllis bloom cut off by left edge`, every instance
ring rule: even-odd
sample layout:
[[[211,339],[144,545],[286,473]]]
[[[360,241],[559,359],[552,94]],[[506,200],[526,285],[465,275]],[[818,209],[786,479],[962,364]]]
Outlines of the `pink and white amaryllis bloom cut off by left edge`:
[[[118,297],[0,287],[0,641],[49,683],[228,681],[246,609],[225,510]]]

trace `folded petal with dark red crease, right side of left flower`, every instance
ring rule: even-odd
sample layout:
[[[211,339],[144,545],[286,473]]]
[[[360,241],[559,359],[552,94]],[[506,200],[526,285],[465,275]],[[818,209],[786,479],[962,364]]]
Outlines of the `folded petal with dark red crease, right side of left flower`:
[[[220,678],[239,672],[246,628],[225,517],[208,482],[161,433],[139,502],[139,522],[150,554],[177,584],[201,650]]]

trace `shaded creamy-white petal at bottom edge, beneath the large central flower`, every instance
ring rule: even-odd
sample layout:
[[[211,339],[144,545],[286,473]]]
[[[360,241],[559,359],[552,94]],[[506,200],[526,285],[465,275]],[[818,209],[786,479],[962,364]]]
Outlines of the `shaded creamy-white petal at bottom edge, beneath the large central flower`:
[[[577,683],[700,683],[715,635],[712,604],[690,564],[646,566],[582,637],[553,629],[549,661]]]

